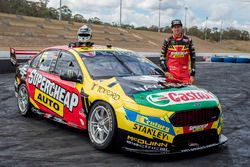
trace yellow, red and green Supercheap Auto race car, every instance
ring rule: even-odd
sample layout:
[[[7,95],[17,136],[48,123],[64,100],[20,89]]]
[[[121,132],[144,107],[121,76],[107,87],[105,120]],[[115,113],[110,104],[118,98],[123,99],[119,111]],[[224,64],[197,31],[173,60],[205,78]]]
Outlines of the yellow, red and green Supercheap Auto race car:
[[[25,51],[16,66],[20,114],[39,114],[87,130],[98,150],[175,154],[224,144],[218,98],[194,85],[169,83],[164,72],[137,53],[111,45]]]

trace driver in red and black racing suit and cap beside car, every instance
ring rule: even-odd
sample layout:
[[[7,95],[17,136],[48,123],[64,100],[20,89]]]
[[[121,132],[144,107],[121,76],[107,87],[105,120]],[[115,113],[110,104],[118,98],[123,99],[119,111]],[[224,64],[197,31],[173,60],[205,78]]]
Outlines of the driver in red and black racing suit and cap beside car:
[[[173,35],[163,41],[160,65],[166,81],[193,84],[195,81],[195,49],[192,39],[183,34],[181,20],[171,22]]]

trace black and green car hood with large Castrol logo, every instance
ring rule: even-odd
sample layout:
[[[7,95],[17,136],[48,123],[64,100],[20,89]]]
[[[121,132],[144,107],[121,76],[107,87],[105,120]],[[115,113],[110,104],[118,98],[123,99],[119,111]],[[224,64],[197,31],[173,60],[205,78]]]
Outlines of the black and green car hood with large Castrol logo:
[[[219,105],[217,97],[197,86],[165,82],[161,76],[116,78],[124,92],[137,104],[168,111],[212,108]]]

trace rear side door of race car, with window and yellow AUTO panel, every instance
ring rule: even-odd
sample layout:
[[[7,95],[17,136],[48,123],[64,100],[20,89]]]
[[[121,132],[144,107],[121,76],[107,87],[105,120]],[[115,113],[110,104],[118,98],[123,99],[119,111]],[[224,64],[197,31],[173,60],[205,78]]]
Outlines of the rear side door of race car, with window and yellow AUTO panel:
[[[53,69],[57,61],[59,50],[46,50],[36,56],[28,70],[26,85],[32,105],[54,116],[62,115],[63,105],[52,96]]]

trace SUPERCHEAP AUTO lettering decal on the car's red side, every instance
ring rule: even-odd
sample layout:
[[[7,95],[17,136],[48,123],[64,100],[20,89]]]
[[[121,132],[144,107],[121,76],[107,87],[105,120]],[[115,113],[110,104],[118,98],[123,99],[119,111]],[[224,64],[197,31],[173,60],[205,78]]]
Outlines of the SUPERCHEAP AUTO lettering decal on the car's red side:
[[[78,106],[79,99],[76,93],[70,93],[36,70],[31,71],[28,76],[28,83],[36,87],[34,99],[60,116],[63,115],[64,106],[70,112]]]

